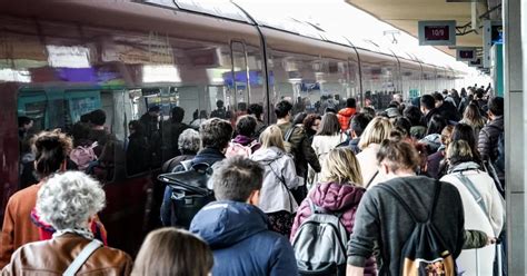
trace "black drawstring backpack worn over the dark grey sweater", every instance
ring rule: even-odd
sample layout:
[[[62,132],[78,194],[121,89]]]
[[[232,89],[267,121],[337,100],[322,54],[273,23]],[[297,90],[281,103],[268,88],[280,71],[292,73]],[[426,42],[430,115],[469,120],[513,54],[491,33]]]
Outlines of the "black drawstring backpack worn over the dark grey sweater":
[[[392,195],[416,224],[414,230],[402,246],[400,254],[401,270],[399,275],[457,275],[456,263],[451,252],[445,246],[440,230],[437,229],[431,221],[437,199],[441,190],[441,184],[436,181],[432,206],[425,221],[417,220],[411,207],[392,187],[386,184],[381,184],[379,187]]]

